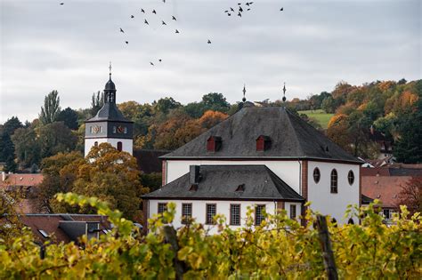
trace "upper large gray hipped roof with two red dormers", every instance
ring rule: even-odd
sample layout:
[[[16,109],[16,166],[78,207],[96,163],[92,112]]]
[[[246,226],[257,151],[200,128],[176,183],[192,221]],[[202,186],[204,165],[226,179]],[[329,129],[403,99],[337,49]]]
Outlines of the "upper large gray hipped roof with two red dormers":
[[[271,148],[256,151],[256,138],[272,140]],[[222,148],[207,151],[210,136],[222,138]],[[247,107],[162,158],[313,158],[361,164],[312,125],[284,107]]]

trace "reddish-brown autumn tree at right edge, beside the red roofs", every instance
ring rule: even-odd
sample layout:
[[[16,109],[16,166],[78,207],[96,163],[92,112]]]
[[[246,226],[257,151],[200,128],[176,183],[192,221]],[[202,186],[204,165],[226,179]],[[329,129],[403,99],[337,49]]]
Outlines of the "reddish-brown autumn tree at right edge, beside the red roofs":
[[[412,177],[398,195],[397,206],[406,205],[410,213],[422,212],[422,177]]]

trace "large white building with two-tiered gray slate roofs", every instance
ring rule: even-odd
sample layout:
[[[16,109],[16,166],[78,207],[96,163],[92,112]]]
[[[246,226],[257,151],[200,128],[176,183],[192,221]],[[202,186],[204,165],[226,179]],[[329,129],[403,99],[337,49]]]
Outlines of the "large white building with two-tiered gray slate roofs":
[[[209,224],[215,213],[242,226],[248,206],[285,209],[297,218],[304,203],[344,223],[348,204],[360,204],[362,161],[284,107],[243,106],[163,159],[163,187],[144,199],[145,218],[176,204],[176,227],[188,218]],[[354,218],[354,222],[357,222]]]

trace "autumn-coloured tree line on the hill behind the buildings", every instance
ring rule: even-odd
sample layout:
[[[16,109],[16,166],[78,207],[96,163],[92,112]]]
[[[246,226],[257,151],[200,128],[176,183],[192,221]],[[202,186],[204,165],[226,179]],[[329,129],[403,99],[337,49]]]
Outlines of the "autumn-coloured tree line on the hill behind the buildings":
[[[372,158],[377,146],[369,140],[370,127],[394,143],[394,156],[402,163],[422,162],[422,80],[377,81],[351,85],[338,83],[332,92],[321,92],[305,100],[293,99],[285,106],[293,112],[323,109],[335,113],[326,134],[354,156]],[[102,106],[101,92],[93,93],[90,108],[61,109],[59,92],[45,96],[37,119],[22,124],[12,116],[0,125],[0,162],[5,172],[37,172],[43,158],[60,152],[83,151],[85,120]],[[260,102],[280,106],[280,100]],[[134,121],[134,148],[174,149],[207,131],[239,110],[222,93],[211,92],[199,102],[183,105],[171,97],[152,103],[126,101],[118,104],[127,119]],[[321,130],[311,117],[300,115]]]

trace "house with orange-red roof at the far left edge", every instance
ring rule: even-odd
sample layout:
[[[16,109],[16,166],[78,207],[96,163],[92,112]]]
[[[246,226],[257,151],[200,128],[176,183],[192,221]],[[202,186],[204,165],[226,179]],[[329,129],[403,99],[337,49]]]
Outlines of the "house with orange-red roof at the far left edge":
[[[37,192],[37,186],[43,181],[40,173],[5,173],[2,172],[0,189],[6,191],[18,190],[22,195],[20,203],[16,205],[16,211],[20,213],[35,212],[32,195]]]

